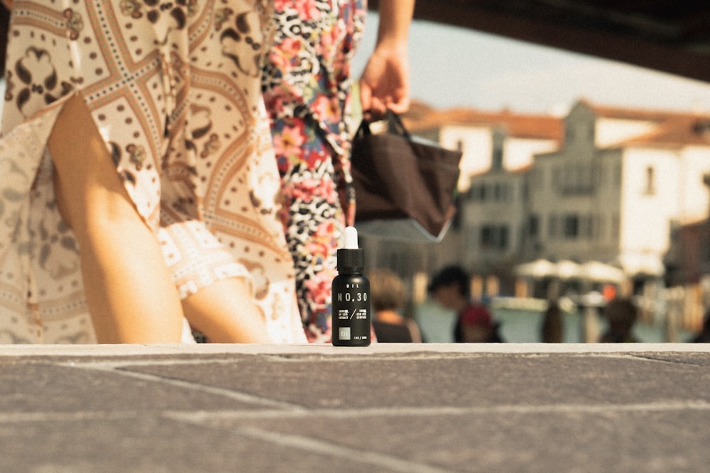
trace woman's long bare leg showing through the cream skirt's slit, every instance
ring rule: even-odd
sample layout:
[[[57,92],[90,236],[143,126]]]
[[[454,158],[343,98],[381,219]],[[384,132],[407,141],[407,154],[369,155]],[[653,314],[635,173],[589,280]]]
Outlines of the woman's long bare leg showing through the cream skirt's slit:
[[[182,307],[158,240],[78,94],[62,109],[49,149],[58,204],[80,245],[99,343],[180,343]]]

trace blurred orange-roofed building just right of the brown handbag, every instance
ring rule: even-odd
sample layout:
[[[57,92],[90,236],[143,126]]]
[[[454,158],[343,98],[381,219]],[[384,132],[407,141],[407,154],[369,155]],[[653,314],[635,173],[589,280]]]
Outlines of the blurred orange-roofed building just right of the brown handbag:
[[[510,111],[418,106],[408,115],[408,128],[463,153],[457,225],[449,241],[433,250],[434,260],[439,267],[457,262],[484,277],[504,279],[505,290],[513,284],[507,269],[518,262],[523,247],[526,179],[533,157],[559,148],[562,121]],[[447,248],[454,240],[456,247]]]

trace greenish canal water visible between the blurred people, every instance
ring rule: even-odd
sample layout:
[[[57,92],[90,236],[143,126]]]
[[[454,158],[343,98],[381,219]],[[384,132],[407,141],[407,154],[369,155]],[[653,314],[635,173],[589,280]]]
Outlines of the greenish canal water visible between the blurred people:
[[[511,308],[493,308],[493,317],[501,323],[501,335],[508,343],[540,342],[542,312]],[[419,324],[422,336],[427,343],[453,342],[455,314],[447,311],[435,302],[427,301],[415,308],[415,320]],[[581,343],[581,313],[563,313],[564,343]],[[600,332],[606,328],[603,318],[597,319]],[[663,323],[636,323],[634,335],[640,342],[665,342]],[[678,329],[678,342],[686,342],[693,334],[689,330]]]

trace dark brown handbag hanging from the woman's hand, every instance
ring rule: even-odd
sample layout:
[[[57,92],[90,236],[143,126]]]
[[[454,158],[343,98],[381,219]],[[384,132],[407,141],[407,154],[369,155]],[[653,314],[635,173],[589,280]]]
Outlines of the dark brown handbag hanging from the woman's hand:
[[[360,233],[440,241],[455,213],[461,152],[414,138],[387,113],[388,132],[362,121],[352,143],[355,224]]]

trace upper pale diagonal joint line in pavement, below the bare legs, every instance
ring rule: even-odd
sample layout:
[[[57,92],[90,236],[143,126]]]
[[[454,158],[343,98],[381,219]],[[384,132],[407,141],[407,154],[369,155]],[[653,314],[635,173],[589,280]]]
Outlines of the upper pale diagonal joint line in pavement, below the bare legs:
[[[216,396],[222,396],[227,399],[232,399],[234,401],[246,402],[248,404],[257,404],[258,406],[266,406],[273,408],[281,408],[289,411],[302,411],[305,407],[300,404],[293,404],[286,401],[277,401],[274,399],[268,399],[263,396],[255,396],[253,394],[248,394],[240,391],[234,391],[231,389],[224,389],[215,386],[208,386],[206,384],[200,384],[196,382],[184,381],[182,379],[170,378],[158,376],[157,374],[139,373],[129,371],[127,369],[116,369],[116,367],[109,365],[104,365],[102,363],[84,365],[84,364],[72,364],[68,363],[67,366],[72,366],[78,369],[87,369],[89,371],[100,371],[112,374],[119,374],[121,376],[132,377],[136,379],[142,379],[143,381],[156,382],[159,384],[169,384],[170,386],[179,387],[182,389],[191,389],[192,391],[200,391],[205,394],[213,394]]]

